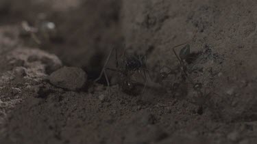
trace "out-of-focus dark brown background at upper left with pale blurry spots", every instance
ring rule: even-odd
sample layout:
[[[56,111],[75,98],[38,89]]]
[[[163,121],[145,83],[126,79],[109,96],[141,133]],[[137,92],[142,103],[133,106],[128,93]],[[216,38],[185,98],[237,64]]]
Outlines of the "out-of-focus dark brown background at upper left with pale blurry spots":
[[[95,78],[106,53],[123,41],[120,10],[117,0],[1,0],[0,25],[10,25],[23,46],[54,53]]]

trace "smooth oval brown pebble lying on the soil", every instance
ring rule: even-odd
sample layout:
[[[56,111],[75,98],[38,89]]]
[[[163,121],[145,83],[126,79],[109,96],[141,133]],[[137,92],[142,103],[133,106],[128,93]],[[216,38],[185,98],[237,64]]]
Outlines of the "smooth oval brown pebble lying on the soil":
[[[81,68],[63,67],[49,76],[49,81],[56,87],[75,91],[86,83],[87,74]]]

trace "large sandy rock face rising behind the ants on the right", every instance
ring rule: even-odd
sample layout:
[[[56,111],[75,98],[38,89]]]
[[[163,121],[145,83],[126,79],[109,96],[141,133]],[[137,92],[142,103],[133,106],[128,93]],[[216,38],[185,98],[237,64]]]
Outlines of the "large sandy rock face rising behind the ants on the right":
[[[255,121],[256,12],[254,1],[124,1],[125,43],[151,50],[149,65],[173,67],[172,47],[197,31],[189,44],[200,55],[191,66],[202,72],[194,81],[217,93],[211,97],[223,119]]]

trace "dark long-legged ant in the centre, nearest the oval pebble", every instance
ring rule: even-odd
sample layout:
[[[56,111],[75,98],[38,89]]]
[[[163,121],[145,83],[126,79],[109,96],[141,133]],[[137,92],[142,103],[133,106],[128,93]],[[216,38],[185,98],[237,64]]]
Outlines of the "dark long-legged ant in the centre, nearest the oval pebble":
[[[127,55],[125,53],[125,48],[123,54],[121,55],[121,63],[119,63],[119,58],[117,55],[117,48],[116,51],[116,68],[106,68],[108,61],[110,60],[110,55],[112,55],[112,51],[114,48],[111,49],[106,63],[104,64],[101,73],[97,79],[95,79],[95,83],[100,80],[101,76],[104,74],[106,78],[106,82],[108,85],[108,92],[110,94],[110,81],[108,80],[108,76],[106,74],[106,70],[111,70],[114,72],[119,72],[119,86],[121,87],[122,91],[128,93],[130,95],[136,95],[138,93],[138,89],[136,89],[137,85],[142,85],[132,79],[134,74],[137,72],[140,76],[143,77],[145,81],[143,85],[143,91],[145,91],[145,87],[147,84],[147,59],[145,55]]]

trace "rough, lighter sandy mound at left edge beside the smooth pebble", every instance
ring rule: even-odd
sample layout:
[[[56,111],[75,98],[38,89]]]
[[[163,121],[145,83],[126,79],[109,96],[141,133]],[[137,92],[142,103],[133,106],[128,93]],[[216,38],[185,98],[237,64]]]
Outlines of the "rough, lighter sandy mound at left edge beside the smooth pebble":
[[[5,136],[8,113],[27,96],[40,95],[42,81],[47,72],[57,70],[62,63],[55,55],[32,48],[11,48],[1,55],[0,74],[0,133]],[[33,61],[32,61],[33,57]]]

